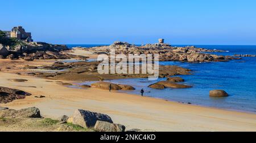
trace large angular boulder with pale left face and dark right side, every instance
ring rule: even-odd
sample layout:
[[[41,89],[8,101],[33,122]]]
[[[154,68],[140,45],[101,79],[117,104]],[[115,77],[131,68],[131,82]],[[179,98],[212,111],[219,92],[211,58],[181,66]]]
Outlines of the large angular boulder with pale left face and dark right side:
[[[93,128],[97,120],[113,123],[111,117],[108,115],[85,110],[76,110],[71,119],[72,121],[68,120],[68,122],[72,122],[84,128]]]

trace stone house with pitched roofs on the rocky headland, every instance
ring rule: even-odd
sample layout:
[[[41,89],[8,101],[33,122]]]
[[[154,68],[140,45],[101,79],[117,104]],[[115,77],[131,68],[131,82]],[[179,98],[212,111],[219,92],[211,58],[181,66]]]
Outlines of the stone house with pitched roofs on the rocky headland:
[[[6,33],[6,37],[14,37],[17,40],[31,42],[33,41],[31,32],[26,32],[22,26],[14,27],[11,31],[4,31]]]

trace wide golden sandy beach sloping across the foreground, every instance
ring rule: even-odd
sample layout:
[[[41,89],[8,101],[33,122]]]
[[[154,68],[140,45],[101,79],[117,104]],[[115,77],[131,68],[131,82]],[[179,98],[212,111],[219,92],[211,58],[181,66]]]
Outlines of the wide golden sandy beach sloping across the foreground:
[[[27,79],[12,82],[9,79]],[[65,81],[67,82],[67,81]],[[73,81],[69,81],[73,83]],[[56,119],[72,115],[76,109],[106,113],[127,129],[144,131],[256,131],[256,115],[236,111],[180,104],[100,89],[72,89],[56,80],[0,72],[0,86],[30,92],[26,99],[14,100],[3,107],[38,107],[44,117]],[[31,87],[35,86],[35,87]],[[46,98],[35,98],[44,95]]]

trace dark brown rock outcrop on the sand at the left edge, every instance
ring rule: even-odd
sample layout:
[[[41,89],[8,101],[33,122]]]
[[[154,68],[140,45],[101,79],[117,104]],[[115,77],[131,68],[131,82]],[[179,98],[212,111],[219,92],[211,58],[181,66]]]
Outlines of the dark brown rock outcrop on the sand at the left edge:
[[[0,103],[9,103],[16,99],[24,99],[31,94],[22,90],[0,86]]]

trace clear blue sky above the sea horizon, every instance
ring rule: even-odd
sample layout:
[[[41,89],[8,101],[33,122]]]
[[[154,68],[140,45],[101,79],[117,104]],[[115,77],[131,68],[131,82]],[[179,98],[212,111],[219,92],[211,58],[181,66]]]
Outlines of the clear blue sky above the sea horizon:
[[[1,0],[0,30],[54,44],[256,45],[255,0]]]

